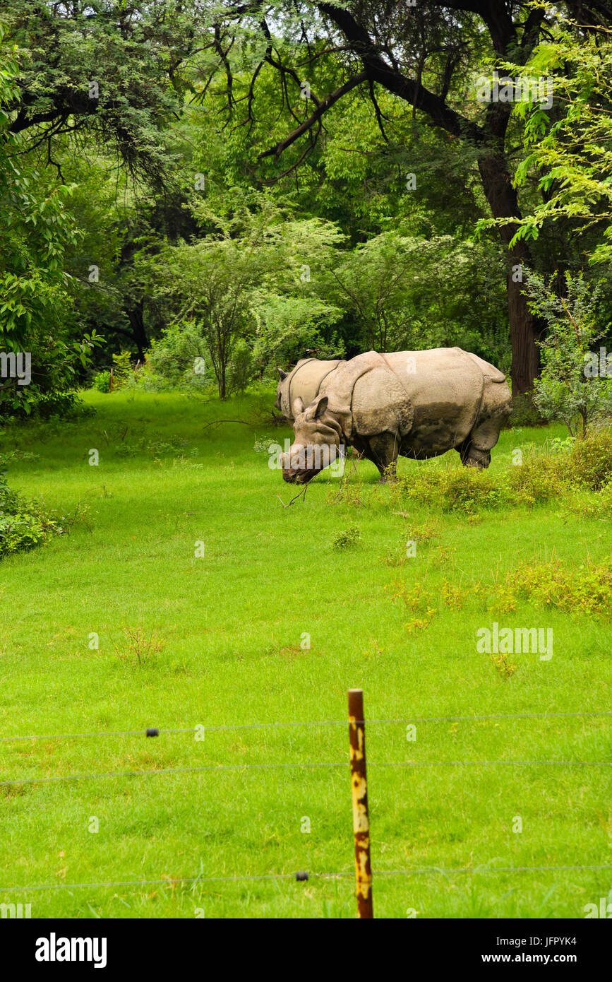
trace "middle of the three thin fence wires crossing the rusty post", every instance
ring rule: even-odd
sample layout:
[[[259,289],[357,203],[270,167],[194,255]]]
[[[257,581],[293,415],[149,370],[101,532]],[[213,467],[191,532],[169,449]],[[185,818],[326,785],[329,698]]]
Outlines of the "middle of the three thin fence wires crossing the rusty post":
[[[0,781],[0,788],[16,785],[43,785],[60,781],[91,781],[99,778],[144,778],[160,774],[189,774],[199,771],[278,770],[300,767],[348,767],[349,760],[292,761],[276,764],[202,764],[197,767],[158,767],[150,771],[102,771],[97,774],[60,774],[43,778],[12,778]],[[400,760],[368,761],[368,767],[612,767],[609,760]]]

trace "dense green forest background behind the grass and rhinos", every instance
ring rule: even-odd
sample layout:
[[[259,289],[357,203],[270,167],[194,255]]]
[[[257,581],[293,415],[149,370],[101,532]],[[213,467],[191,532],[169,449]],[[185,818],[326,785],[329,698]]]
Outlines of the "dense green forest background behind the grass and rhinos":
[[[0,351],[31,356],[0,417],[111,370],[226,398],[370,348],[458,345],[518,398],[559,345],[612,346],[608,5],[6,0],[0,25]]]

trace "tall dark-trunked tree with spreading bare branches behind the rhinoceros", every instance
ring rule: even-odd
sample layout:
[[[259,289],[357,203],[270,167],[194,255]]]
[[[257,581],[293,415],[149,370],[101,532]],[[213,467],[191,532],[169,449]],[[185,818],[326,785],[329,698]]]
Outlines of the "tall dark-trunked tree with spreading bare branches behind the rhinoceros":
[[[612,18],[603,3],[568,6],[580,6],[583,14],[599,20]],[[554,10],[547,14],[543,6],[507,0],[454,0],[443,6],[427,0],[414,6],[407,6],[405,0],[291,0],[274,5],[230,4],[224,7],[216,27],[219,67],[226,76],[223,94],[229,108],[234,108],[229,65],[229,51],[235,39],[232,21],[242,26],[250,23],[263,38],[263,47],[245,100],[248,114],[253,112],[257,77],[268,65],[279,73],[285,105],[295,118],[291,132],[264,149],[260,159],[272,157],[278,161],[297,144],[299,156],[292,166],[298,166],[321,132],[325,114],[358,86],[369,90],[374,112],[383,126],[377,85],[405,100],[415,113],[424,114],[454,139],[474,148],[485,197],[492,216],[501,220],[498,230],[507,250],[515,393],[526,393],[533,387],[539,363],[536,340],[540,325],[526,302],[522,283],[512,275],[513,267],[532,264],[526,241],[515,239],[521,211],[508,147],[514,106],[512,101],[480,105],[474,75],[487,57],[492,58],[492,67],[501,67],[510,60],[526,64],[542,30],[551,26],[554,16]],[[283,40],[276,41],[276,37]],[[330,65],[331,50],[337,78],[327,94],[317,94],[309,80],[315,77],[318,61],[326,59]],[[307,91],[309,105],[314,106],[301,118],[293,110],[292,95],[296,90],[298,94],[300,90]]]

